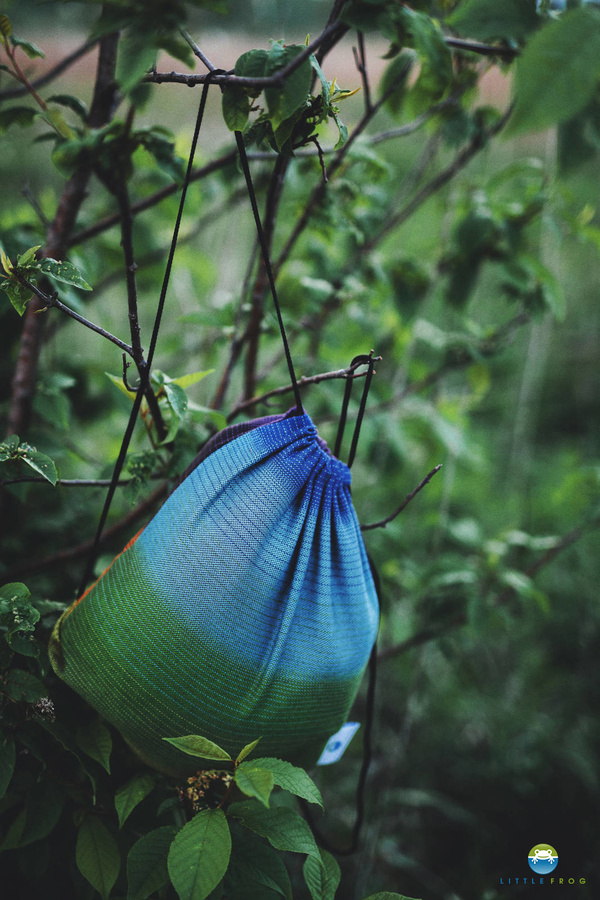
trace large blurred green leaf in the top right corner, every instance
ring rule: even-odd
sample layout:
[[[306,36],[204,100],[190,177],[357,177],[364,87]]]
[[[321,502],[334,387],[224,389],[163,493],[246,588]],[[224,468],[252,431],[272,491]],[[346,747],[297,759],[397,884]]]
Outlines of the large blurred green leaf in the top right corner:
[[[600,77],[600,10],[570,10],[535,34],[517,61],[515,109],[506,134],[540,131],[573,118]]]

